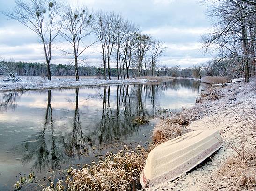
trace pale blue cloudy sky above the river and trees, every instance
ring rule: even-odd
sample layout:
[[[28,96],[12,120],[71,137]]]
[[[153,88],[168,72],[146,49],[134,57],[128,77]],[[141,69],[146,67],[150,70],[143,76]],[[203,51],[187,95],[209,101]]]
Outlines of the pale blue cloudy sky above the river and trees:
[[[115,11],[139,25],[143,33],[165,42],[168,49],[161,64],[183,68],[204,63],[211,55],[204,55],[200,37],[210,28],[205,16],[206,7],[199,0],[69,0],[83,3],[89,9]],[[15,7],[15,0],[0,0],[0,11]],[[56,47],[66,46],[64,42]],[[44,62],[44,52],[38,37],[15,20],[0,14],[0,57],[5,60]],[[87,63],[100,66],[97,47],[88,48]],[[70,63],[70,57],[55,51],[52,63]],[[115,64],[112,63],[112,67]]]

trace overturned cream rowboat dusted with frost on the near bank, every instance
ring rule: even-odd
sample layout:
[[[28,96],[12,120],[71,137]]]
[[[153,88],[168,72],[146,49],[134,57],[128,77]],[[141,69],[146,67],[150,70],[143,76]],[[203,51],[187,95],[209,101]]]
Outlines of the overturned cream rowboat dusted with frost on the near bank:
[[[217,130],[197,130],[155,147],[140,175],[142,187],[172,181],[210,157],[222,145]]]

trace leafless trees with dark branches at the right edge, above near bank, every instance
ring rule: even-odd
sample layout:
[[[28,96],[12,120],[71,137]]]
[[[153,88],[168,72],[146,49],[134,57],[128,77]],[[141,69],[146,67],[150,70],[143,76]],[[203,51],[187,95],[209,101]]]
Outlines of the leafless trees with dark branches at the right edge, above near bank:
[[[230,70],[243,74],[245,82],[255,76],[256,2],[255,0],[202,0],[214,25],[203,37],[207,51],[218,52],[219,61],[230,63]]]

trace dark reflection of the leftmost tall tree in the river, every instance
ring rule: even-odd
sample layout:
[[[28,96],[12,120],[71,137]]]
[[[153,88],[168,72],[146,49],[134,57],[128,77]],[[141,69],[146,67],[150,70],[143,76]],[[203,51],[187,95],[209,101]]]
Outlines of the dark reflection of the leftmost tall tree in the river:
[[[37,139],[32,139],[37,136]],[[53,109],[51,107],[51,90],[48,90],[47,107],[44,124],[39,135],[31,136],[31,139],[18,146],[17,150],[22,152],[22,163],[32,163],[37,171],[44,169],[60,169],[61,163],[65,161],[63,148],[59,147],[59,137],[54,134]],[[51,141],[50,141],[51,140]],[[49,146],[47,146],[49,144]]]

